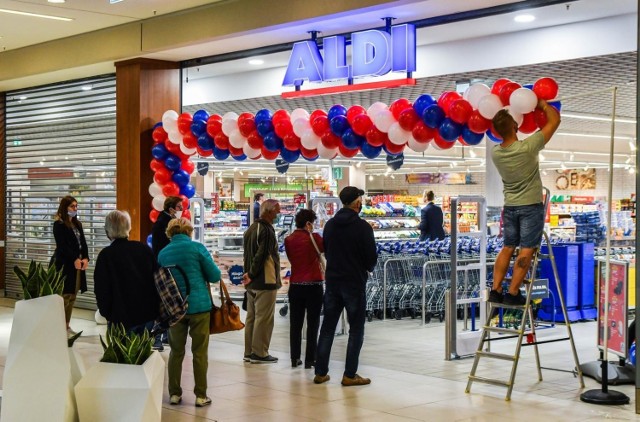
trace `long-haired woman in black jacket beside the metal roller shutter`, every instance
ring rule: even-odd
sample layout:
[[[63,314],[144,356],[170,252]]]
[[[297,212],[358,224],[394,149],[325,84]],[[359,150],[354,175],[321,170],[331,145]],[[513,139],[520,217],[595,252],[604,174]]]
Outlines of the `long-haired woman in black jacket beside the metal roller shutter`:
[[[53,222],[56,250],[51,260],[58,271],[62,269],[65,276],[62,298],[64,299],[64,316],[69,335],[76,334],[69,327],[69,322],[78,290],[82,293],[87,291],[86,270],[89,267],[89,249],[77,214],[78,201],[68,195],[60,200]]]

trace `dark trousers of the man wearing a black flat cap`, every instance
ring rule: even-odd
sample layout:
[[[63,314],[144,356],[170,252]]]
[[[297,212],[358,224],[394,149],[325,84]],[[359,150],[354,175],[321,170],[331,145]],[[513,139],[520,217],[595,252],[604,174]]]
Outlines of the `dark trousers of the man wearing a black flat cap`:
[[[354,290],[349,286],[327,286],[324,293],[324,321],[320,329],[316,352],[316,375],[326,375],[329,372],[331,346],[343,309],[346,309],[349,321],[349,342],[347,343],[344,375],[349,378],[356,375],[360,349],[362,349],[364,341],[366,302],[364,291]]]

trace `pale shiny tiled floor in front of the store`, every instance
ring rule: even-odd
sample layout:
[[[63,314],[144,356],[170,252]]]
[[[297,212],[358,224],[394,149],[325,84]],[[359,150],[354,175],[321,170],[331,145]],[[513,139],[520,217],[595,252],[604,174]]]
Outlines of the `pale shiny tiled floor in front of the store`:
[[[13,303],[0,301],[0,369],[4,368]],[[278,305],[280,308],[280,305]],[[585,378],[586,389],[579,388],[571,374],[543,371],[538,382],[533,350],[522,354],[512,400],[504,400],[505,389],[475,384],[465,394],[472,359],[444,360],[444,326],[420,326],[418,320],[374,320],[366,325],[365,343],[359,373],[371,377],[364,387],[342,387],[346,336],[334,342],[330,368],[331,381],[312,382],[313,370],[292,369],[288,355],[288,318],[276,315],[271,351],[280,358],[275,365],[242,362],[241,332],[212,337],[209,349],[209,389],[213,405],[196,408],[189,391],[193,387],[191,360],[185,359],[182,385],[183,402],[170,406],[165,388],[162,421],[628,421],[640,420],[635,414],[635,387],[611,387],[632,398],[626,406],[597,406],[580,401],[588,389],[600,384]],[[90,366],[101,356],[98,334],[105,327],[93,322],[93,313],[74,311],[72,326],[84,330],[74,346]],[[573,324],[582,362],[595,360],[595,323]],[[559,330],[564,333],[564,326]],[[509,352],[513,340],[498,342],[495,351]],[[169,352],[162,353],[168,359]],[[542,366],[571,369],[568,342],[541,346]],[[509,362],[492,361],[481,365],[488,371],[505,373]],[[166,384],[166,378],[165,378]]]

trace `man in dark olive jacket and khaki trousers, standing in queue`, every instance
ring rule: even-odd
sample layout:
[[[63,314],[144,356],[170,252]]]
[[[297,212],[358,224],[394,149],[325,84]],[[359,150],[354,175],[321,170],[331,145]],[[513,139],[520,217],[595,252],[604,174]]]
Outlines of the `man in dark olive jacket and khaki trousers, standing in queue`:
[[[242,283],[247,289],[247,319],[244,328],[244,361],[276,363],[269,354],[273,333],[276,295],[282,287],[280,254],[273,220],[280,204],[267,199],[260,206],[260,218],[244,233],[244,270]]]

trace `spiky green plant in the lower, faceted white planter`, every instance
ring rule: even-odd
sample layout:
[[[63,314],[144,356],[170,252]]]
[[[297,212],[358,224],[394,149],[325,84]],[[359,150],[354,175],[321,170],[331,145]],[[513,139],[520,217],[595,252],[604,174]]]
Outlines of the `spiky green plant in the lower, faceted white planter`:
[[[104,355],[100,362],[142,365],[152,353],[154,338],[148,331],[143,334],[127,332],[122,324],[111,324],[106,342],[100,336]]]

